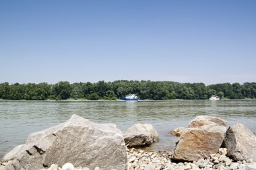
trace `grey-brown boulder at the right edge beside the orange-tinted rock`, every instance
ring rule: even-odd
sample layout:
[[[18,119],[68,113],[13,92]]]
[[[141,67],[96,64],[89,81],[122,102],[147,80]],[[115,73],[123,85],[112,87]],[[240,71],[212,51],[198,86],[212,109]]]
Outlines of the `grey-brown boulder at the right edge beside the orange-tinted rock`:
[[[236,161],[256,161],[256,136],[243,124],[234,124],[226,132],[224,144],[228,156]]]

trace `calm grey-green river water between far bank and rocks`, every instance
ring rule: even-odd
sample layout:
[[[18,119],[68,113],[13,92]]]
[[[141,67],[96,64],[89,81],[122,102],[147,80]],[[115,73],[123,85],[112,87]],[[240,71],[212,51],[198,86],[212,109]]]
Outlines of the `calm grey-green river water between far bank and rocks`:
[[[245,124],[256,132],[256,100],[171,101],[0,101],[0,160],[28,134],[50,128],[77,114],[93,122],[114,123],[125,130],[136,123],[152,124],[160,141],[148,149],[173,150],[178,138],[170,130],[187,126],[198,115]],[[228,127],[227,126],[227,127]]]

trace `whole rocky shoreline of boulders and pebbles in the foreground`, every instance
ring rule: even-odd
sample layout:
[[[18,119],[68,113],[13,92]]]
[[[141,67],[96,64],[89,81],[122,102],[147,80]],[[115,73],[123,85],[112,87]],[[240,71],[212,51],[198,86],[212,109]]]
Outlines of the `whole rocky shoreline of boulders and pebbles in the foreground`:
[[[96,124],[73,115],[67,122],[30,134],[25,144],[3,157],[0,170],[256,169],[256,136],[243,124],[226,130],[226,120],[196,116],[177,132],[180,138],[173,152],[143,151],[133,147],[159,139],[151,124],[121,131],[115,124]]]

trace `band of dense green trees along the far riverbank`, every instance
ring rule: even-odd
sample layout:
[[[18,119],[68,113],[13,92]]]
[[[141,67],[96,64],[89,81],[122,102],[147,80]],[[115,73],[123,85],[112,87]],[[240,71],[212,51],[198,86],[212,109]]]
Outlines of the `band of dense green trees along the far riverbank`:
[[[176,83],[171,81],[114,81],[98,83],[73,83],[60,81],[48,83],[0,84],[0,99],[119,99],[135,93],[139,99],[209,99],[211,95],[220,98],[256,98],[256,83],[222,83],[205,86],[203,83]]]

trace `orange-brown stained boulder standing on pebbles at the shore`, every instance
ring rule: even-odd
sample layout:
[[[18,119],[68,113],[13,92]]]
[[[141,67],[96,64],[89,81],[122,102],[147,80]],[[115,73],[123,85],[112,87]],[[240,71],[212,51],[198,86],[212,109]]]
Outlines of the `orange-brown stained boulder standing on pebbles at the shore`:
[[[181,135],[172,159],[197,161],[217,153],[226,134],[226,121],[213,116],[196,116]]]

